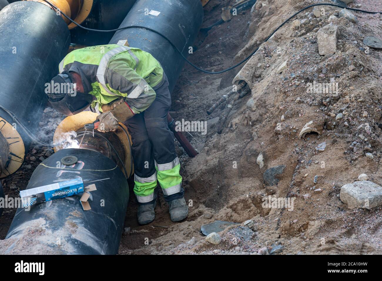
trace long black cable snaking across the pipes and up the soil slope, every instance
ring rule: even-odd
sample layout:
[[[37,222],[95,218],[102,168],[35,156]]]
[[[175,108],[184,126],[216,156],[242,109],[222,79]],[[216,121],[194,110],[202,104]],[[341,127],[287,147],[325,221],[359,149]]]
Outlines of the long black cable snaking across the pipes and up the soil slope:
[[[52,3],[49,3],[47,0],[43,0],[44,2],[48,3],[52,8],[54,9],[58,9],[55,5],[53,5]],[[286,19],[282,24],[280,24],[278,26],[278,28],[276,28],[269,36],[267,39],[265,39],[264,42],[267,42],[269,40],[270,37],[272,37],[273,34],[275,34],[276,31],[278,31],[278,29],[280,29],[285,23],[287,23],[288,21],[290,21],[290,19],[294,18],[296,15],[298,15],[299,13],[301,13],[302,11],[305,11],[306,9],[308,8],[311,8],[311,7],[314,7],[314,6],[323,6],[323,5],[326,5],[326,6],[334,6],[334,7],[339,7],[339,8],[343,8],[343,6],[340,6],[340,5],[336,5],[336,4],[331,4],[331,3],[318,3],[318,4],[312,4],[312,5],[309,5],[309,6],[306,6],[305,8],[302,8],[301,10],[299,10],[298,12],[294,13],[292,16],[290,16],[288,19]],[[362,13],[368,13],[368,14],[377,14],[377,13],[382,13],[382,12],[371,12],[371,11],[364,11],[364,10],[359,10],[359,9],[354,9],[354,8],[346,8],[347,10],[352,10],[352,11],[357,11],[357,12],[362,12]],[[170,41],[170,39],[168,39],[164,34],[162,34],[161,32],[159,31],[156,31],[152,28],[148,28],[146,26],[139,26],[139,25],[131,25],[131,26],[125,26],[125,27],[122,27],[122,28],[116,28],[116,29],[110,29],[110,30],[99,30],[99,29],[91,29],[91,28],[86,28],[84,26],[81,26],[80,24],[76,23],[73,19],[71,19],[70,17],[68,17],[67,15],[65,15],[62,11],[60,11],[60,13],[62,13],[63,16],[65,16],[65,18],[69,19],[72,23],[76,24],[76,26],[78,26],[79,28],[82,28],[82,29],[85,29],[85,30],[88,30],[88,31],[96,31],[96,32],[115,32],[115,31],[118,31],[118,30],[122,30],[122,29],[126,29],[126,28],[144,28],[144,29],[148,29],[152,32],[155,32],[157,34],[159,34],[160,36],[162,36],[164,39],[166,39],[170,45],[172,45],[174,47],[174,49],[183,57],[183,59],[189,63],[189,65],[191,65],[192,67],[196,68],[197,70],[199,71],[202,71],[204,73],[207,73],[207,74],[220,74],[220,73],[223,73],[223,72],[226,72],[226,71],[229,71],[233,68],[236,68],[238,67],[239,65],[241,65],[242,63],[246,62],[246,60],[248,60],[248,58],[252,57],[256,52],[257,50],[259,49],[259,47],[257,47],[250,55],[248,55],[248,57],[244,58],[244,60],[242,60],[241,62],[238,62],[236,63],[234,66],[232,67],[229,67],[225,70],[221,70],[221,71],[207,71],[207,70],[204,70],[200,67],[197,67],[196,65],[194,65],[192,62],[190,62],[184,55],[183,53],[173,44],[173,42]],[[264,43],[263,42],[263,43]]]

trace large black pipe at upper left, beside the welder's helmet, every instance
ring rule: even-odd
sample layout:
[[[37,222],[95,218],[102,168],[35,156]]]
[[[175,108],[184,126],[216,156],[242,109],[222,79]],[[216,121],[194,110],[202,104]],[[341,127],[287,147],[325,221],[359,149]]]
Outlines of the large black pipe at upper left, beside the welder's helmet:
[[[0,105],[33,133],[47,102],[45,83],[58,72],[69,44],[65,21],[41,3],[15,2],[0,11]],[[0,117],[15,123],[1,108]],[[28,151],[31,139],[15,128]]]

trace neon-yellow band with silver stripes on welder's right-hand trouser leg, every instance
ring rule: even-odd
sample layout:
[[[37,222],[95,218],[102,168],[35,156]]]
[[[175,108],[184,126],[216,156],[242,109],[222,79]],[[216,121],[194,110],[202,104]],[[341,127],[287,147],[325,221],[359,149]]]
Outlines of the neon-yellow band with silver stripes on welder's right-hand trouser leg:
[[[179,174],[180,164],[178,157],[166,164],[158,164],[155,161],[155,168],[158,171],[157,177],[164,195],[172,195],[181,191],[182,176]]]

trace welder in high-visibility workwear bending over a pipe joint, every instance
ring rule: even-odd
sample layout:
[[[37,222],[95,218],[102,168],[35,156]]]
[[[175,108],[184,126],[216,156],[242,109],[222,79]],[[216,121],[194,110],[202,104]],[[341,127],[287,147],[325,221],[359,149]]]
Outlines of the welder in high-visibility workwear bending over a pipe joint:
[[[174,135],[168,128],[171,106],[168,80],[160,63],[149,53],[125,45],[76,49],[59,65],[50,85],[70,84],[75,91],[45,91],[52,107],[65,115],[97,112],[97,130],[109,132],[126,125],[132,138],[134,193],[138,223],[155,219],[159,182],[172,221],[188,216]]]

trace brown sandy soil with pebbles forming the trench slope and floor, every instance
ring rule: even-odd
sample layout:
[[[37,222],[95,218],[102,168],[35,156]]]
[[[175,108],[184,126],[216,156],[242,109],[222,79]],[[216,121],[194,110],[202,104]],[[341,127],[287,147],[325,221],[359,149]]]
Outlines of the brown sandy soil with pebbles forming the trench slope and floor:
[[[221,8],[232,3],[210,0],[205,6],[203,26],[214,23],[220,18]],[[125,227],[130,230],[122,235],[120,254],[382,253],[381,207],[350,210],[339,198],[342,185],[356,181],[362,173],[382,184],[382,57],[377,49],[365,54],[363,44],[366,36],[382,38],[382,20],[379,14],[354,12],[358,23],[353,23],[339,19],[341,9],[335,7],[325,7],[325,14],[317,18],[309,9],[297,16],[308,19],[309,24],[293,28],[290,21],[262,44],[286,18],[312,3],[319,1],[257,0],[253,11],[240,13],[209,32],[200,32],[189,59],[207,70],[230,67],[260,48],[245,66],[219,75],[206,75],[185,65],[173,92],[172,116],[207,121],[208,126],[206,135],[186,134],[199,152],[196,158],[188,158],[182,148],[177,148],[185,198],[191,205],[189,217],[172,223],[168,205],[160,196],[155,221],[139,226],[131,192],[125,219]],[[382,6],[380,0],[355,0],[349,6],[355,4],[369,11]],[[332,56],[320,56],[317,31],[329,24],[331,15],[337,16],[333,24],[340,32],[337,50]],[[285,61],[285,70],[278,73]],[[350,65],[355,70],[350,71]],[[206,110],[232,89],[239,71],[251,94],[233,104],[226,126],[218,134],[219,117],[226,104],[211,115]],[[307,83],[327,83],[331,79],[338,83],[338,96],[306,92]],[[247,106],[250,99],[251,106]],[[49,122],[62,118],[50,109],[46,111],[44,119]],[[335,120],[338,113],[343,113],[343,118]],[[299,132],[309,121],[319,133],[300,139]],[[48,137],[52,133],[50,128],[45,131]],[[317,145],[323,142],[324,151],[317,151]],[[2,181],[6,194],[18,194],[17,189],[10,190],[11,183],[19,189],[26,186],[39,162],[28,161],[32,149],[26,161],[31,168],[24,165]],[[42,153],[44,148],[36,147],[34,154]],[[373,159],[365,153],[372,153]],[[264,157],[263,167],[257,164],[259,154]],[[282,174],[277,175],[279,181],[265,185],[264,172],[278,165],[285,165]],[[293,211],[264,208],[262,198],[269,195],[295,198]],[[14,212],[6,210],[0,218],[2,239]],[[215,220],[239,223],[251,238],[231,226],[219,233],[219,245],[210,244],[200,228]],[[248,220],[251,223],[244,223]],[[149,245],[144,243],[146,238]]]

